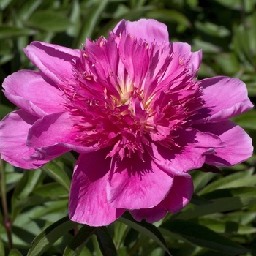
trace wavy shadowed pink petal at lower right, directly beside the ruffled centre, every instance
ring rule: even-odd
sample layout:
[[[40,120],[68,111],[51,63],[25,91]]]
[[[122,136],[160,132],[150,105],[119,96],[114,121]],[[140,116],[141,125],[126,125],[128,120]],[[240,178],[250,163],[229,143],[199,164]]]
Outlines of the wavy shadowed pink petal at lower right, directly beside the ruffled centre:
[[[222,148],[222,143],[216,135],[200,132],[196,129],[179,130],[173,133],[179,147],[166,148],[159,143],[151,143],[147,146],[154,162],[175,176],[187,176],[187,171],[202,167],[205,162],[204,154],[212,148]]]

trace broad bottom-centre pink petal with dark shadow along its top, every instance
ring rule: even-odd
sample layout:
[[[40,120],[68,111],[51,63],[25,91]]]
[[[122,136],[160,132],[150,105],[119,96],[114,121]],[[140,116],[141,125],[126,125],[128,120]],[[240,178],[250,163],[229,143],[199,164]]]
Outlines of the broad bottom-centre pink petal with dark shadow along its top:
[[[108,203],[129,210],[157,206],[170,190],[173,177],[163,172],[148,153],[144,161],[134,154],[131,159],[116,161],[107,183]]]

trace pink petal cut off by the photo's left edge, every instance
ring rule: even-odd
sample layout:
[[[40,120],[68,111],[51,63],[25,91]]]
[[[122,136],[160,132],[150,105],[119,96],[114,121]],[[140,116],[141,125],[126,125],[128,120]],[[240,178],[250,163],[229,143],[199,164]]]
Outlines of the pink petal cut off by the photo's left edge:
[[[34,169],[32,162],[26,162],[23,157],[34,153],[34,148],[26,146],[29,128],[37,117],[23,110],[17,110],[7,115],[0,122],[0,152],[1,158],[11,165],[25,169]]]

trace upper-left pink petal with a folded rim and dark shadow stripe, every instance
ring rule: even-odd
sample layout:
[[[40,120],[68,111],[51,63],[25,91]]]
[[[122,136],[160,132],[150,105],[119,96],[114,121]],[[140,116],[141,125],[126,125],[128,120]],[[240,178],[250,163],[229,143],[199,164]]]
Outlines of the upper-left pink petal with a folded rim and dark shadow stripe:
[[[78,50],[46,42],[31,42],[24,52],[32,63],[55,83],[73,78],[71,62],[79,58]]]

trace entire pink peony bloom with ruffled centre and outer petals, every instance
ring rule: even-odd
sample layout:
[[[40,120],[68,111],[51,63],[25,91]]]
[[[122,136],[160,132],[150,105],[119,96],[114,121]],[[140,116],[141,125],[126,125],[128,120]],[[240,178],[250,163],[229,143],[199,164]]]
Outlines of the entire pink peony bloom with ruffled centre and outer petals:
[[[121,20],[80,50],[45,42],[24,49],[40,71],[4,80],[20,109],[0,123],[0,153],[35,169],[79,153],[70,219],[108,225],[129,210],[148,222],[176,213],[193,193],[189,170],[236,165],[252,141],[228,119],[252,108],[241,80],[198,81],[201,52],[168,39],[157,20]]]

